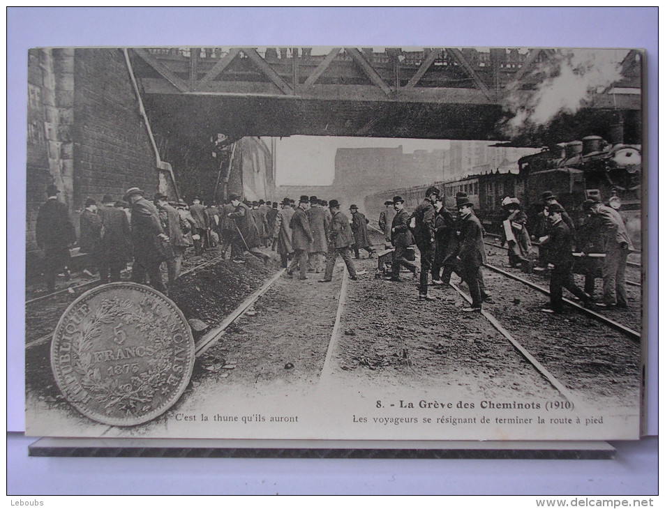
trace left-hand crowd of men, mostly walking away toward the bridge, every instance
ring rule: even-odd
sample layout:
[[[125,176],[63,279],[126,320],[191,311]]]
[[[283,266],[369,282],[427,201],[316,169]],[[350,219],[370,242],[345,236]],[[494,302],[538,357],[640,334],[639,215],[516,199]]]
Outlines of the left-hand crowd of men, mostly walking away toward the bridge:
[[[271,256],[262,248],[276,250],[288,275],[299,271],[300,279],[308,273],[324,273],[322,282],[331,280],[338,255],[345,260],[352,280],[364,271],[356,271],[350,252],[367,250],[374,255],[367,233],[365,216],[351,206],[352,221],[341,212],[340,204],[330,204],[317,197],[301,196],[298,202],[285,198],[278,202],[248,202],[230,195],[227,203],[204,206],[199,197],[191,204],[184,200],[169,202],[158,194],[154,200],[144,197],[140,188],[130,188],[122,201],[105,195],[100,204],[88,198],[80,214],[80,235],[70,220],[68,208],[59,202],[60,190],[47,188],[47,202],[41,206],[36,225],[36,240],[43,250],[43,273],[47,291],[54,291],[57,274],[68,276],[70,248],[77,243],[86,254],[83,272],[100,282],[117,282],[129,261],[133,261],[131,280],[149,283],[165,294],[179,278],[186,250],[195,255],[219,246],[223,257],[234,263],[246,263],[254,256],[267,264]],[[164,284],[160,267],[167,268]]]

